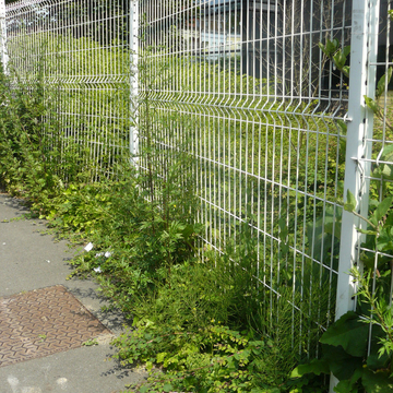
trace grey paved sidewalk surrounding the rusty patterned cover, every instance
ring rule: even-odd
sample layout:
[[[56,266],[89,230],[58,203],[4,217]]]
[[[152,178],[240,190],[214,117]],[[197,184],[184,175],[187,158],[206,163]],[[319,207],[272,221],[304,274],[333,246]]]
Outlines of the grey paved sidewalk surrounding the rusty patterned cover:
[[[66,241],[56,242],[44,235],[45,223],[37,219],[14,219],[26,211],[17,200],[0,194],[0,297],[53,285],[63,285],[105,326],[119,334],[120,313],[103,313],[105,301],[91,281],[71,279],[67,261],[72,251]],[[1,346],[1,332],[0,332]],[[121,368],[109,359],[109,343],[83,346],[0,367],[0,393],[112,393],[145,378],[142,371]]]

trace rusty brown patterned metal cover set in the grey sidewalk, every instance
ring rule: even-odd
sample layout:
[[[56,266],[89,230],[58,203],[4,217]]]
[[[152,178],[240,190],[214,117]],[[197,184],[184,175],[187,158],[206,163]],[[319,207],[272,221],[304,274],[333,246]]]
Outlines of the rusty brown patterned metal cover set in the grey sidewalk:
[[[62,285],[0,298],[0,367],[111,334]]]

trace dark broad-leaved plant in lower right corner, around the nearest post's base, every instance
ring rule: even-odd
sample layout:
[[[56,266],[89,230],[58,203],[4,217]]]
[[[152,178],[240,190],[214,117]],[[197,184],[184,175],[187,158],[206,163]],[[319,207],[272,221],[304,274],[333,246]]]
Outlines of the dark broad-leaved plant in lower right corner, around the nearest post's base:
[[[368,393],[388,392],[393,389],[393,307],[391,305],[391,263],[379,259],[377,252],[392,251],[393,198],[386,196],[369,218],[357,213],[355,196],[348,191],[344,209],[362,218],[367,229],[358,230],[368,236],[372,247],[373,263],[365,260],[365,273],[353,267],[350,274],[358,285],[357,312],[347,312],[322,335],[323,356],[307,365],[298,366],[291,377],[306,373],[333,373],[338,380],[335,392],[357,392],[362,388]],[[377,251],[377,252],[376,252]]]

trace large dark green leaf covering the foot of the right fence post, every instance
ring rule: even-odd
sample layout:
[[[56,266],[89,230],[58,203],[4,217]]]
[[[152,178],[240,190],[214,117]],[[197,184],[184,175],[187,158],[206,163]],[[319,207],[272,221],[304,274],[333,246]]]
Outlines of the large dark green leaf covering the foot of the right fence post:
[[[349,311],[323,333],[320,342],[342,346],[347,354],[362,357],[367,349],[367,337],[368,325],[359,321],[357,313]]]

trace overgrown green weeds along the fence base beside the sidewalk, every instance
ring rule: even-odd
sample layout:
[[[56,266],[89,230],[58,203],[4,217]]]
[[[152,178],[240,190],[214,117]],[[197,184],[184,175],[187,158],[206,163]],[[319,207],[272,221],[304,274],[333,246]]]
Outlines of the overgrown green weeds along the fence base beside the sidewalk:
[[[40,76],[41,63],[28,88],[15,75],[2,75],[2,184],[27,198],[58,233],[94,245],[72,262],[73,274],[95,276],[103,294],[133,319],[115,345],[124,364],[145,364],[150,370],[147,383],[135,390],[322,391],[309,380],[291,386],[288,373],[315,352],[320,326],[332,315],[332,294],[321,293],[324,278],[310,279],[302,293],[298,282],[318,276],[311,263],[284,274],[264,261],[278,287],[269,286],[259,265],[260,239],[249,222],[236,228],[233,240],[222,240],[222,250],[201,249],[196,165],[189,147],[195,124],[155,105],[156,84],[170,81],[152,79],[142,60],[144,94],[136,103],[139,117],[128,124],[138,127],[140,150],[116,164],[88,160],[88,148],[66,134],[56,106],[49,105],[60,99],[60,90],[51,91]],[[160,67],[165,74],[168,64]],[[56,121],[47,122],[49,117]],[[282,240],[281,252],[286,236]],[[272,260],[278,253],[272,250]],[[321,299],[318,309],[311,303],[314,294]]]

